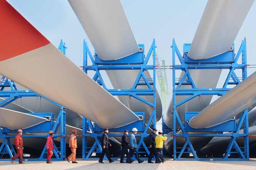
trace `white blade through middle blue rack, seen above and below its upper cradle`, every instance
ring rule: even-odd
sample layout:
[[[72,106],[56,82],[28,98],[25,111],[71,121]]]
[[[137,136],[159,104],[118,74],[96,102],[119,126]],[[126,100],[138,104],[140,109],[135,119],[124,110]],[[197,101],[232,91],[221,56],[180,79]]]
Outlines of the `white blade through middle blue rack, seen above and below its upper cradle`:
[[[77,18],[100,59],[119,59],[139,51],[129,22],[119,0],[69,0]],[[95,13],[95,11],[97,11]],[[104,26],[103,26],[104,25]],[[129,89],[137,78],[138,71],[119,70],[106,71],[115,89]],[[148,71],[147,78],[151,78]],[[125,76],[124,76],[125,75]],[[126,77],[127,76],[127,77]],[[140,86],[147,88],[147,86]],[[134,112],[145,112],[145,120],[149,120],[152,107],[129,96],[118,96],[119,100]],[[143,96],[151,101],[152,96]],[[157,120],[162,115],[159,94],[156,94]],[[153,101],[151,101],[153,103]]]

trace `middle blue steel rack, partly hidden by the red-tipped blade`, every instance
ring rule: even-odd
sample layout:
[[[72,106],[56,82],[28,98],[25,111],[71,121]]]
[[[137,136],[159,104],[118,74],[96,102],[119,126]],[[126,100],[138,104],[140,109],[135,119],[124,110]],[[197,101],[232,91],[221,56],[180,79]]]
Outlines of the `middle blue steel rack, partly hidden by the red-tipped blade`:
[[[83,53],[83,66],[81,68],[83,71],[87,74],[88,70],[95,71],[95,75],[92,78],[94,81],[102,85],[102,87],[107,90],[110,94],[113,96],[131,96],[136,98],[137,100],[144,102],[145,104],[152,107],[152,114],[147,123],[147,126],[144,127],[144,120],[138,120],[137,122],[134,122],[139,127],[138,130],[141,131],[141,134],[137,134],[136,136],[140,136],[141,140],[138,144],[138,150],[141,148],[146,150],[146,153],[149,155],[149,150],[146,147],[146,144],[143,142],[143,139],[149,134],[147,134],[147,129],[149,128],[150,122],[153,120],[153,126],[156,127],[156,63],[155,63],[155,50],[157,46],[155,45],[155,39],[152,42],[152,45],[149,49],[149,52],[147,53],[147,56],[144,55],[144,45],[139,44],[140,51],[132,54],[130,56],[127,56],[122,59],[112,60],[112,61],[103,61],[98,58],[97,53],[95,52],[94,57],[90,53],[90,50],[87,46],[86,41],[84,40],[84,53]],[[153,65],[148,65],[148,61],[151,58],[151,54],[153,53]],[[89,58],[92,62],[91,66],[87,65],[87,56],[89,55]],[[95,58],[95,59],[94,59]],[[140,70],[139,74],[136,78],[136,81],[134,82],[134,85],[131,89],[108,89],[104,81],[102,79],[102,76],[100,74],[100,70]],[[153,70],[153,79],[147,79],[144,75],[144,71],[146,70]],[[148,89],[136,89],[139,85],[147,85]],[[140,96],[152,96],[153,103],[144,100]],[[138,116],[144,115],[143,112],[136,112]],[[142,116],[144,117],[144,116]],[[109,129],[109,132],[123,132],[124,129],[130,130],[134,127],[134,123],[125,125],[124,127],[117,129]],[[87,131],[91,131],[92,134],[87,134]],[[82,158],[83,160],[98,160],[96,158],[91,158],[92,153],[100,153],[102,151],[102,147],[100,144],[99,137],[102,136],[102,132],[104,130],[97,127],[96,124],[93,124],[90,120],[83,118],[83,150],[82,150]],[[123,134],[109,134],[109,137],[121,137]],[[91,148],[87,147],[87,137],[93,137],[95,139],[95,143]],[[141,145],[143,147],[141,147]],[[87,149],[89,151],[87,151]],[[145,153],[140,151],[139,153]],[[106,157],[104,157],[104,160],[107,160]],[[114,160],[117,160],[117,158],[114,158]]]

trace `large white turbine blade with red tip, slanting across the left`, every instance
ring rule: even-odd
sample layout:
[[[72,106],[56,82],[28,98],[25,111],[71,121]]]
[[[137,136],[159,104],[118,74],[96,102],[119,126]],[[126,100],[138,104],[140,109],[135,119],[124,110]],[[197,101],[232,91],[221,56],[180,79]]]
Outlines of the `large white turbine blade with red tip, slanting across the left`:
[[[139,120],[81,71],[8,2],[0,1],[0,74],[92,120],[116,128]],[[13,48],[13,46],[17,48]]]

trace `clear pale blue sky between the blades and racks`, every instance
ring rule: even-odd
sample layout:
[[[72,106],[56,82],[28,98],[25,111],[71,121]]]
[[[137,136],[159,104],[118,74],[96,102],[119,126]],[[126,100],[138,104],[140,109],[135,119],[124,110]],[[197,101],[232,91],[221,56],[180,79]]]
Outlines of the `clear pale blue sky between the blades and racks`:
[[[8,0],[35,28],[55,46],[63,39],[68,47],[66,55],[77,65],[82,65],[82,42],[89,41],[72,8],[66,0]],[[137,43],[144,43],[146,51],[153,38],[157,53],[171,63],[171,43],[175,38],[179,50],[183,43],[191,43],[207,0],[121,0]],[[236,51],[244,37],[247,39],[248,63],[256,64],[256,3],[249,11],[236,37]],[[93,47],[88,42],[93,52]],[[249,74],[256,71],[249,69]],[[221,79],[225,79],[224,73]],[[89,74],[92,75],[92,74]],[[105,75],[105,74],[104,74]],[[172,89],[171,70],[167,71],[169,91]],[[109,82],[106,82],[109,83]],[[219,83],[219,85],[221,85]],[[159,86],[157,86],[159,89]]]

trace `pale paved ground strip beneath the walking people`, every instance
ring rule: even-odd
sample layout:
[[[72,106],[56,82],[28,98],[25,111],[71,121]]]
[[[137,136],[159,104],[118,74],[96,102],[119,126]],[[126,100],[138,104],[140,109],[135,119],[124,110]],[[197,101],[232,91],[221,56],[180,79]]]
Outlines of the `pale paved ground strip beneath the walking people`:
[[[42,169],[89,169],[89,170],[256,170],[256,158],[250,159],[249,161],[209,161],[209,162],[200,162],[200,161],[172,161],[168,160],[165,163],[137,163],[134,162],[132,164],[127,163],[118,163],[115,161],[113,163],[109,163],[104,161],[105,163],[98,163],[98,161],[82,161],[77,160],[77,164],[68,163],[67,161],[59,161],[53,162],[52,164],[47,164],[45,162],[25,162],[25,164],[18,164],[18,162],[0,162],[0,170],[12,170],[12,169],[20,169],[20,170],[42,170]]]

